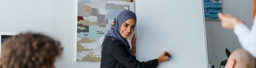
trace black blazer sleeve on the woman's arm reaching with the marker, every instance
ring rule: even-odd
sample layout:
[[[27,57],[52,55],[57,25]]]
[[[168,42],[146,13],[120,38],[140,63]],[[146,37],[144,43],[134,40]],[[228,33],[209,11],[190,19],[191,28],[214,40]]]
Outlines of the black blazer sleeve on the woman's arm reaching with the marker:
[[[146,62],[136,60],[135,56],[131,56],[124,43],[120,40],[114,40],[111,55],[121,64],[127,68],[156,68],[158,60],[153,59]]]

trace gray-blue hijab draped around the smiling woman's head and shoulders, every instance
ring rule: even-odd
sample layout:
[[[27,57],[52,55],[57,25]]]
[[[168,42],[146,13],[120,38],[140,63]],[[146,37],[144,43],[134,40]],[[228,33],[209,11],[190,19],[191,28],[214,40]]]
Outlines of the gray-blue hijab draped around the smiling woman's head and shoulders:
[[[121,25],[128,19],[131,19],[133,18],[135,20],[135,22],[137,22],[137,18],[136,18],[136,15],[134,12],[130,11],[130,10],[124,10],[122,11],[118,16],[117,16],[117,19],[116,19],[116,26],[112,26],[110,28],[110,30],[107,31],[107,35],[105,35],[105,38],[102,42],[102,45],[101,45],[101,51],[102,51],[102,48],[103,48],[103,44],[105,42],[105,40],[107,39],[108,36],[113,36],[114,38],[117,38],[119,39],[120,41],[122,41],[127,47],[128,51],[131,53],[131,46],[129,45],[128,41],[126,38],[123,38],[121,36],[121,33],[120,33],[120,28],[121,28]]]

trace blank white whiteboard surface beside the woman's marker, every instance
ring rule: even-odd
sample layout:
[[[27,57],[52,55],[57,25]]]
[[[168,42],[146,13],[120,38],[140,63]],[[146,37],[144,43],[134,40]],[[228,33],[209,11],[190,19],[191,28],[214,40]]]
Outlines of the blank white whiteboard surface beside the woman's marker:
[[[202,0],[136,0],[137,59],[172,59],[158,68],[207,68]]]

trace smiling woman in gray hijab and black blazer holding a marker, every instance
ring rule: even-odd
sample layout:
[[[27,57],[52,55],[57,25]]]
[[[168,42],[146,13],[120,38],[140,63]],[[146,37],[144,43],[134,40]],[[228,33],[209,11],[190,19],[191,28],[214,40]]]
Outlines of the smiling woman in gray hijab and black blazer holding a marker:
[[[156,68],[160,62],[169,60],[166,51],[157,59],[147,62],[136,60],[134,56],[136,37],[133,34],[132,48],[126,40],[133,33],[136,21],[136,15],[132,11],[124,10],[118,15],[116,26],[110,28],[101,46],[101,68]]]

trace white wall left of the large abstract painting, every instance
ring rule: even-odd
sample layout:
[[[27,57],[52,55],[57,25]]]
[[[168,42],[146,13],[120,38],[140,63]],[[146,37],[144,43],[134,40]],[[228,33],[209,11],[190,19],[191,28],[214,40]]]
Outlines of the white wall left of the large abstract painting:
[[[99,68],[76,62],[77,0],[0,0],[0,32],[40,32],[64,47],[57,68]]]

